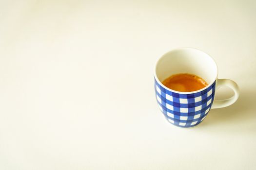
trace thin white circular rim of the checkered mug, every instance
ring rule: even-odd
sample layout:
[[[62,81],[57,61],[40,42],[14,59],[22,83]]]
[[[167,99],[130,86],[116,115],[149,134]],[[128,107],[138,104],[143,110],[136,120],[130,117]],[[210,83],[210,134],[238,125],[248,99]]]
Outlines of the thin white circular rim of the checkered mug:
[[[156,79],[156,81],[158,82],[159,85],[161,85],[161,86],[162,86],[163,88],[165,88],[166,90],[169,90],[169,91],[174,92],[174,93],[179,93],[179,94],[193,94],[193,93],[197,93],[197,92],[200,92],[200,91],[203,91],[203,90],[207,89],[208,87],[210,87],[210,86],[217,80],[217,77],[218,77],[218,67],[217,67],[216,61],[215,61],[215,60],[213,59],[213,57],[211,57],[208,53],[206,53],[206,52],[204,52],[204,51],[201,51],[201,52],[205,53],[205,54],[207,55],[207,57],[209,57],[209,58],[213,61],[213,63],[215,64],[215,66],[216,66],[216,68],[217,68],[217,74],[216,74],[216,76],[215,76],[215,79],[214,79],[211,83],[209,83],[207,86],[205,86],[205,87],[203,87],[203,88],[201,88],[201,89],[199,89],[199,90],[197,90],[197,91],[189,91],[189,92],[176,91],[176,90],[173,90],[173,89],[168,88],[168,87],[166,87],[165,85],[163,85],[163,84],[159,81],[158,76],[157,76],[157,66],[158,66],[158,62],[160,61],[160,59],[161,59],[163,56],[165,56],[165,55],[168,54],[169,52],[178,51],[178,50],[196,50],[196,51],[201,51],[201,50],[196,49],[196,48],[181,47],[181,48],[175,48],[175,49],[173,49],[173,50],[170,50],[170,51],[164,53],[161,57],[159,57],[158,60],[157,60],[157,62],[156,62],[156,64],[155,64],[155,70],[154,70],[154,77],[155,77],[155,79]]]

